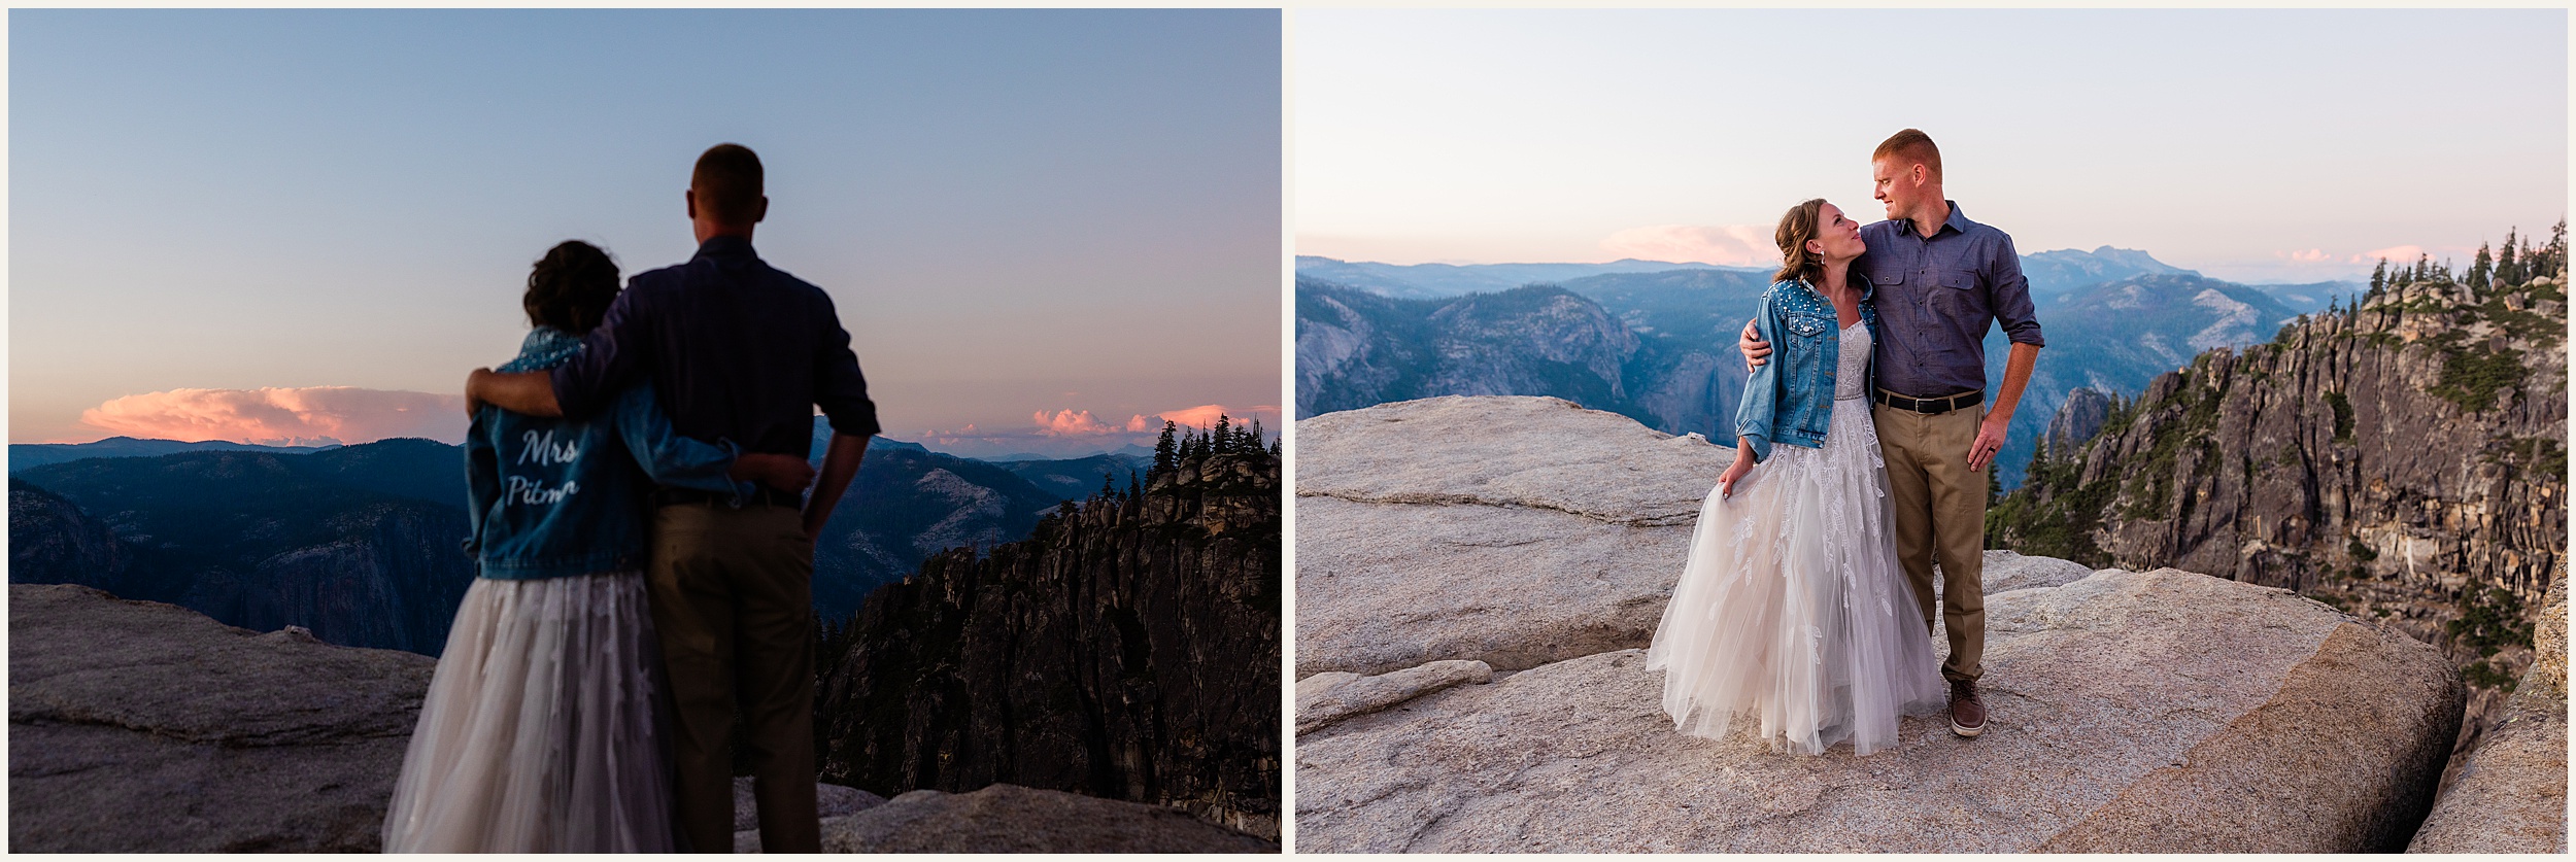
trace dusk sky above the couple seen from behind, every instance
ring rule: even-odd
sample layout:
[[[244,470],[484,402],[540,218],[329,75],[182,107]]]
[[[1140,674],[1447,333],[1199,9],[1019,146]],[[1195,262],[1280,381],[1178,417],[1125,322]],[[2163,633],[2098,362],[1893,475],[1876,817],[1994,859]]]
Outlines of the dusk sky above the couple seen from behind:
[[[1280,404],[1275,10],[10,10],[10,443],[464,437],[562,239],[760,152],[886,435]],[[940,440],[940,443],[933,443]]]

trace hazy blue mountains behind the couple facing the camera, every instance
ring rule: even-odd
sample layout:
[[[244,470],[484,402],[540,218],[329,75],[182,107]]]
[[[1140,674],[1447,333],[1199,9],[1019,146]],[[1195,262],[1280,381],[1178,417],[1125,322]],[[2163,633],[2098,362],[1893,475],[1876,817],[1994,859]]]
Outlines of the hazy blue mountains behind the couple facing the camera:
[[[2272,337],[2360,283],[2241,286],[2099,247],[2022,257],[2048,350],[1996,458],[2022,481],[2071,389],[2136,394],[2208,347]],[[1492,288],[1497,278],[1551,283]],[[1558,396],[1646,427],[1734,440],[1752,319],[1767,268],[1656,265],[1381,265],[1298,257],[1298,417],[1427,396]],[[1463,293],[1479,288],[1492,293]],[[1986,337],[1989,389],[2004,378],[2002,327]]]

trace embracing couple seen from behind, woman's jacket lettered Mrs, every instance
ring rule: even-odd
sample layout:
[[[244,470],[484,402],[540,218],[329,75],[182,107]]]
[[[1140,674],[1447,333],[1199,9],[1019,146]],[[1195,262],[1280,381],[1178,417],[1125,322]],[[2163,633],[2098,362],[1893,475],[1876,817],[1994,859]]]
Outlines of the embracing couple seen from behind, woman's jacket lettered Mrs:
[[[762,849],[822,849],[814,535],[876,404],[832,298],[752,252],[760,157],[708,149],[685,203],[698,255],[623,291],[598,247],[546,252],[520,355],[466,381],[479,576],[386,852],[732,852],[737,720]]]

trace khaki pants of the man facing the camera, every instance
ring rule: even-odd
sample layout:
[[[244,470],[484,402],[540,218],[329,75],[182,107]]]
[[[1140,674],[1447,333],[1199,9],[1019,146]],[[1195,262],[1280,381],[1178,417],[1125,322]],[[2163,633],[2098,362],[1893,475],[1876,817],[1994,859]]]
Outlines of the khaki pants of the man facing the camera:
[[[1984,409],[1924,417],[1875,404],[1873,417],[1888,461],[1896,561],[1914,587],[1924,633],[1932,630],[1935,607],[1950,628],[1950,659],[1940,674],[1953,682],[1976,679],[1986,672],[1986,471],[1968,468],[1968,448],[1976,445]],[[1935,561],[1942,571],[1940,605],[1932,602]]]

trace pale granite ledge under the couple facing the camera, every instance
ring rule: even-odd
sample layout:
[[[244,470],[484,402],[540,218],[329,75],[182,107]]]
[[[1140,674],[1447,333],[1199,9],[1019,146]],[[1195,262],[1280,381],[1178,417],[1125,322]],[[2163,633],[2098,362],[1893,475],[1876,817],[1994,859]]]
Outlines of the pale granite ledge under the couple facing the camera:
[[[1641,648],[1728,453],[1623,422],[1425,399],[1298,425],[1298,849],[2352,852],[2432,805],[2463,702],[2439,651],[2285,589],[2012,551],[1986,553],[1984,736],[1680,736]],[[1492,527],[1533,512],[1582,522]],[[1613,527],[1654,533],[1577,556]]]

